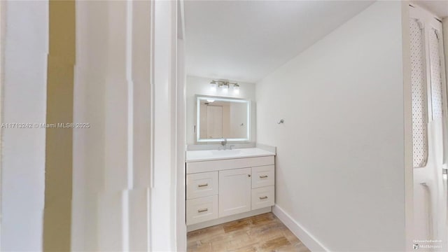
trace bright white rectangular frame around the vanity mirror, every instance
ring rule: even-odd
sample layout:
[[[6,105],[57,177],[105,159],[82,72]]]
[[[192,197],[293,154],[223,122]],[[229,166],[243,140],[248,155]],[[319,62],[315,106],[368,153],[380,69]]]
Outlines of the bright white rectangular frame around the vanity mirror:
[[[207,100],[210,98],[213,98],[215,100],[221,101],[221,102],[240,102],[240,103],[246,103],[247,104],[247,137],[246,138],[233,138],[233,139],[227,139],[227,141],[232,142],[249,142],[251,141],[251,101],[248,99],[242,99],[242,98],[234,98],[234,97],[218,97],[218,96],[212,96],[212,95],[202,95],[202,94],[196,94],[196,143],[210,143],[210,142],[221,142],[223,139],[201,139],[200,138],[200,107],[201,107],[201,100]]]

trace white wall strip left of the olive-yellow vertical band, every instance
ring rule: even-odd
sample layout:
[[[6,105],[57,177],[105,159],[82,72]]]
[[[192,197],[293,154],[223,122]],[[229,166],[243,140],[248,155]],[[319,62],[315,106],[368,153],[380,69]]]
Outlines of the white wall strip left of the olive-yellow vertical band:
[[[3,118],[45,123],[48,1],[2,2]],[[4,22],[4,23],[3,23]],[[3,53],[3,52],[2,52]],[[41,251],[45,129],[1,129],[1,251]]]

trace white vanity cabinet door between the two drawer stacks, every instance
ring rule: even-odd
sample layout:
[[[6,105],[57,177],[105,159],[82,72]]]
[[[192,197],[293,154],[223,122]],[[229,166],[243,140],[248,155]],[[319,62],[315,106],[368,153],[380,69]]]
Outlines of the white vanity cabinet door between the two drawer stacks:
[[[251,168],[219,172],[219,217],[251,211]]]

